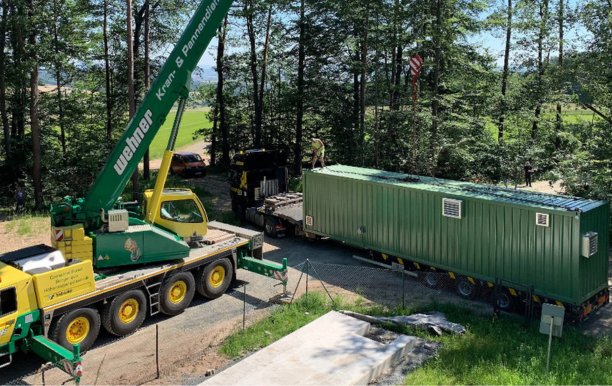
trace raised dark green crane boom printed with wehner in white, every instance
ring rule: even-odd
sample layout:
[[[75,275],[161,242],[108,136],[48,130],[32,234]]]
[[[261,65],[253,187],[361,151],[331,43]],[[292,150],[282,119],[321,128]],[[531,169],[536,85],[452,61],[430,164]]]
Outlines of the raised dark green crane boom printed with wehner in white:
[[[176,100],[189,93],[191,73],[204,54],[233,0],[204,0],[162,67],[127,130],[87,192],[82,212],[108,211],[138,167]]]

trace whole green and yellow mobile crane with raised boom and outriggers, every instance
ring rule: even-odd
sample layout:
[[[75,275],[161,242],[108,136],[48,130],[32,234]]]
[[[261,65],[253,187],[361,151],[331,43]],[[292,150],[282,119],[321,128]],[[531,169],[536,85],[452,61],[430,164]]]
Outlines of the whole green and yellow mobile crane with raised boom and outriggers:
[[[0,255],[0,368],[33,351],[74,375],[100,328],[123,336],[149,315],[216,298],[239,268],[287,283],[287,262],[262,260],[261,232],[209,222],[188,189],[164,189],[191,73],[232,0],[204,0],[85,198],[51,205],[51,241]],[[119,195],[178,100],[155,188]]]

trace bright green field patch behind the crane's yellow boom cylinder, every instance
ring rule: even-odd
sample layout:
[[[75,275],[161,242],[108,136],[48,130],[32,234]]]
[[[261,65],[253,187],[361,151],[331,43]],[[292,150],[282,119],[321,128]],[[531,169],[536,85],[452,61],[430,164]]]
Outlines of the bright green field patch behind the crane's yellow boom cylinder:
[[[212,127],[212,122],[206,118],[206,112],[208,110],[208,107],[185,109],[178,136],[176,138],[176,145],[174,146],[176,150],[193,143],[193,133],[197,130],[204,127]],[[175,117],[176,111],[170,112],[166,118],[166,122],[159,129],[159,133],[155,139],[153,139],[153,142],[149,147],[151,159],[162,157],[164,150],[166,150],[166,147],[168,146],[168,138],[170,137],[170,131],[172,130],[172,124],[174,123]]]

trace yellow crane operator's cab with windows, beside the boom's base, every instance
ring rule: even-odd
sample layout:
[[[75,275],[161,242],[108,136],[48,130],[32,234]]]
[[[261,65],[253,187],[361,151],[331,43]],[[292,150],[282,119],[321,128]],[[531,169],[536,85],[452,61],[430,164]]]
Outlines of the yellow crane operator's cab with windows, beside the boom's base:
[[[144,211],[149,211],[153,189],[144,193]],[[208,216],[202,202],[190,189],[164,189],[159,208],[154,208],[154,224],[188,241],[208,232]]]

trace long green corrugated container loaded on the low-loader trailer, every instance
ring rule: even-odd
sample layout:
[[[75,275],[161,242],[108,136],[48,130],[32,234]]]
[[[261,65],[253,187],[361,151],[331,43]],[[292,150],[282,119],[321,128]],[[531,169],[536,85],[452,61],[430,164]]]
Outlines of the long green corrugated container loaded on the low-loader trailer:
[[[580,305],[608,287],[610,207],[350,166],[304,173],[304,230]]]

